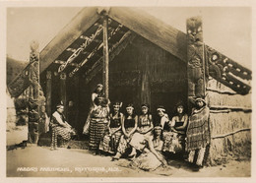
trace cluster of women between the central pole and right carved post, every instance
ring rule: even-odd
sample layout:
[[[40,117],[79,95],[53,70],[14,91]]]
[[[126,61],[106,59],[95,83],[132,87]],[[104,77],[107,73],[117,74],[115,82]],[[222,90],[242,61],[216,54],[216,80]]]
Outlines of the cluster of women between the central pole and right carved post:
[[[112,160],[126,156],[132,159],[133,165],[145,170],[154,170],[160,165],[167,164],[162,152],[187,151],[188,160],[197,166],[202,166],[205,148],[209,144],[209,139],[206,137],[209,136],[209,126],[206,123],[209,112],[203,98],[196,100],[197,105],[193,109],[197,114],[196,117],[192,117],[193,112],[189,117],[184,113],[184,105],[178,103],[176,115],[171,119],[161,105],[157,108],[158,116],[153,118],[147,103],[141,105],[140,115],[136,114],[132,103],[126,106],[123,114],[120,112],[122,102],[115,102],[110,112],[110,102],[103,97],[102,88],[103,86],[98,84],[92,94],[89,117],[84,126],[84,134],[89,135],[91,151],[95,154],[111,153]],[[202,111],[204,111],[203,117],[200,116]],[[189,122],[190,118],[192,126]],[[189,133],[188,137],[186,137],[187,133]]]

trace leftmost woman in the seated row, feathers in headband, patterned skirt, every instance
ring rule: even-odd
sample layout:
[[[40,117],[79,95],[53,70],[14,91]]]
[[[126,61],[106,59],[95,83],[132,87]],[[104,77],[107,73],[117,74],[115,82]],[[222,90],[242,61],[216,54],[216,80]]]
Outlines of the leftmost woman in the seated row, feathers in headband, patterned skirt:
[[[117,151],[117,146],[122,135],[121,120],[123,113],[119,111],[121,106],[122,102],[115,102],[113,104],[113,112],[109,116],[108,131],[99,144],[99,150],[102,152],[116,153]]]

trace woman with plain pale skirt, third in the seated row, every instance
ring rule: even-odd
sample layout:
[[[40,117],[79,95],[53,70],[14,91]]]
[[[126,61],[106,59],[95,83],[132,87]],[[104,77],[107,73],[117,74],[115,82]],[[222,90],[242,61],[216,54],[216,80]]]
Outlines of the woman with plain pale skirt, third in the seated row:
[[[149,105],[142,105],[142,114],[139,116],[137,132],[134,133],[130,145],[134,148],[129,156],[135,156],[136,150],[143,151],[145,139],[152,135],[153,130],[152,115],[149,114]]]

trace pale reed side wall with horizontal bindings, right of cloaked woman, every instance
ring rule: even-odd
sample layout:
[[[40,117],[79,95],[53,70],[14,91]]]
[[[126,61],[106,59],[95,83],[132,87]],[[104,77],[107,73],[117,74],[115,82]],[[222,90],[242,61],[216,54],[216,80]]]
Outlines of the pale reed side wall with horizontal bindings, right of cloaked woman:
[[[251,93],[240,95],[216,80],[207,86],[211,146],[208,163],[251,156]]]

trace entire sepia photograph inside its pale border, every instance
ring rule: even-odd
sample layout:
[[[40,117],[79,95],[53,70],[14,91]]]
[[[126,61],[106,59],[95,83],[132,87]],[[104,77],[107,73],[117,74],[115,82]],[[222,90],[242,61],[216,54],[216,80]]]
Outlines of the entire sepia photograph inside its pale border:
[[[6,177],[251,177],[251,22],[251,7],[8,7]]]

